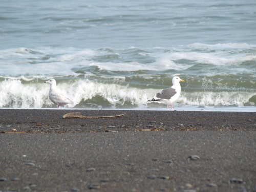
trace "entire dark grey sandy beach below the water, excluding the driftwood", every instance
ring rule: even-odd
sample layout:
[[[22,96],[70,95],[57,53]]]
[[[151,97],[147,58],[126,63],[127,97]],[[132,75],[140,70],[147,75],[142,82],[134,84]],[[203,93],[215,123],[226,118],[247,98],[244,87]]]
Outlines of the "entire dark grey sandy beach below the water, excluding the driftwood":
[[[256,113],[79,111],[0,110],[0,191],[256,191]]]

